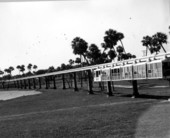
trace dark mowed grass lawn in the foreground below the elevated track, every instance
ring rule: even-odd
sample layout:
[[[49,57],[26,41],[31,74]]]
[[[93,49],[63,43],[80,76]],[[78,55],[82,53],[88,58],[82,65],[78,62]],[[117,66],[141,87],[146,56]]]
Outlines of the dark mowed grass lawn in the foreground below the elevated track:
[[[145,86],[139,88],[141,97],[132,99],[132,89],[126,88],[115,88],[112,97],[107,97],[105,91],[88,95],[85,88],[78,92],[73,89],[42,89],[40,95],[0,102],[0,137],[133,138],[137,131],[141,131],[137,137],[147,137],[149,132],[145,133],[144,128],[148,124],[142,124],[139,129],[139,120],[152,107],[169,107],[168,102],[162,102],[169,98],[169,90]],[[154,108],[154,112],[159,110]],[[161,112],[167,117],[166,109]],[[152,118],[145,117],[145,121],[161,121]],[[165,136],[166,132],[163,131],[162,135],[161,132],[160,129],[151,136]]]

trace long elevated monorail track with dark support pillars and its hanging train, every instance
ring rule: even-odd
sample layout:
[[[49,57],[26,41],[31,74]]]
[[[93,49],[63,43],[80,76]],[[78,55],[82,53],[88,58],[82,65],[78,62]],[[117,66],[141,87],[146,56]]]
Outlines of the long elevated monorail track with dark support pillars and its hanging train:
[[[135,59],[110,62],[92,66],[85,66],[69,70],[51,72],[41,75],[22,77],[17,79],[2,80],[0,85],[3,89],[39,89],[42,87],[42,78],[45,80],[48,89],[49,81],[53,81],[53,88],[56,89],[55,77],[62,76],[62,85],[65,89],[65,75],[73,74],[74,90],[78,91],[76,74],[85,71],[88,75],[88,91],[93,94],[92,83],[106,82],[108,95],[112,95],[111,81],[131,80],[133,85],[133,95],[138,96],[137,80],[141,79],[167,79],[170,78],[170,52],[158,55],[151,55]],[[51,77],[49,80],[48,78]],[[32,83],[31,83],[32,82]],[[38,82],[38,86],[37,83]]]

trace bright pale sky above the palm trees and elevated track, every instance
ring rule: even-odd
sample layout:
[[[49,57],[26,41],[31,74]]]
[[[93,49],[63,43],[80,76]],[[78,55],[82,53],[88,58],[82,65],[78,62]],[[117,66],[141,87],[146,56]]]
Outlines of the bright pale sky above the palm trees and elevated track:
[[[143,36],[156,32],[168,35],[170,51],[168,26],[170,0],[0,0],[0,69],[67,64],[78,57],[71,48],[75,37],[101,48],[108,29],[122,32],[125,50],[137,57]]]

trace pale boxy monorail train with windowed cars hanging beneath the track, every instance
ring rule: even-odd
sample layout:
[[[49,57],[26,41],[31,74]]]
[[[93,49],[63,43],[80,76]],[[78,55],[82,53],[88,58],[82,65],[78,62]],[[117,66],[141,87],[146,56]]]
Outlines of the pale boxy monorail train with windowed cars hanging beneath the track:
[[[122,81],[170,78],[170,58],[113,65],[94,70],[94,81]]]

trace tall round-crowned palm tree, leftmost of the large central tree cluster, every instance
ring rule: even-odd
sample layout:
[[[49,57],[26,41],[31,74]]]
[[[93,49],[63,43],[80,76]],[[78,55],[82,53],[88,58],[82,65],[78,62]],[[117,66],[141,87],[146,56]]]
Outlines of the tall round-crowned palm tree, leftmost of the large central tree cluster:
[[[71,45],[72,45],[73,53],[75,55],[83,56],[86,62],[89,64],[86,58],[86,53],[87,53],[87,48],[88,48],[87,42],[80,37],[76,37],[73,39]]]

